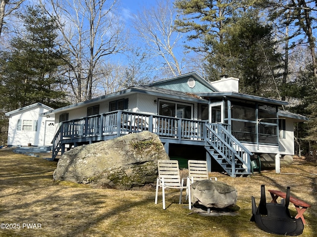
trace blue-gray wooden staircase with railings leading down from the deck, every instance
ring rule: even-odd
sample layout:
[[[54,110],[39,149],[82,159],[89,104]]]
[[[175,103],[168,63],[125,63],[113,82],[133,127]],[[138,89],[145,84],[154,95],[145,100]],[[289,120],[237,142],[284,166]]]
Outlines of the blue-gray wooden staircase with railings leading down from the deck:
[[[231,177],[251,175],[251,159],[253,154],[248,151],[220,123],[206,123],[205,149],[214,160]]]

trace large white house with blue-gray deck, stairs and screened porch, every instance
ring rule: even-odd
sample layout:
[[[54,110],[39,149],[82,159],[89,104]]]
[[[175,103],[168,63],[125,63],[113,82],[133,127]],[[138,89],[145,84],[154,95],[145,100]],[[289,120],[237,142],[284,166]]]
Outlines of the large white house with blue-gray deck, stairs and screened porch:
[[[170,157],[205,159],[231,176],[251,173],[251,158],[294,155],[288,102],[238,92],[239,79],[208,82],[197,73],[163,79],[41,114],[55,117],[53,156],[82,144],[148,130]]]

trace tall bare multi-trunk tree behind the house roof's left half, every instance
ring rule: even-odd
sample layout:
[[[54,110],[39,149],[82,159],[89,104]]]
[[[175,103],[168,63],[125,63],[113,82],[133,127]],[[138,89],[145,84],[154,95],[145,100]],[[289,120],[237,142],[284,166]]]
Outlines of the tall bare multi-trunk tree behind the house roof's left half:
[[[48,13],[57,16],[61,47],[70,56],[65,77],[76,102],[89,100],[97,86],[97,65],[125,48],[123,26],[114,14],[117,0],[48,1]]]

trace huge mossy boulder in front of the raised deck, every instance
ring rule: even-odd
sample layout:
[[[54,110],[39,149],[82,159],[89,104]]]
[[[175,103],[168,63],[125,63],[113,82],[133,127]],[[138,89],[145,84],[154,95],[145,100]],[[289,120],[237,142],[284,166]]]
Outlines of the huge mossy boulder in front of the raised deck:
[[[53,178],[130,189],[155,182],[158,159],[169,159],[159,137],[148,131],[132,133],[65,152]]]

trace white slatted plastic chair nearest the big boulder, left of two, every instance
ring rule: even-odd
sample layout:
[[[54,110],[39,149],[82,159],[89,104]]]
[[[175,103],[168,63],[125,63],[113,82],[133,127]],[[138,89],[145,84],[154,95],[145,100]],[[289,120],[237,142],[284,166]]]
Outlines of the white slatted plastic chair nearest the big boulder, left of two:
[[[163,201],[164,210],[166,209],[165,208],[165,189],[179,189],[180,190],[178,204],[181,204],[183,189],[185,189],[188,192],[189,209],[192,209],[191,196],[190,196],[190,181],[188,178],[182,178],[182,180],[180,179],[178,161],[177,160],[158,160],[158,171],[159,171],[159,176],[157,179],[155,204],[158,204],[159,187],[162,188],[162,201]],[[184,179],[187,179],[186,186],[184,186]]]

